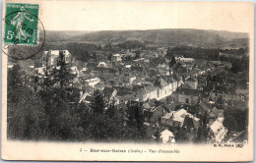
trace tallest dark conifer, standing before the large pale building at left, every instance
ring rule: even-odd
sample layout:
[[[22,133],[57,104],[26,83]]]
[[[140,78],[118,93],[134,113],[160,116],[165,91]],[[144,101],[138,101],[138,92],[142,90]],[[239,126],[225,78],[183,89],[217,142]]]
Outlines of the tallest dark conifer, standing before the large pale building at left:
[[[70,65],[65,61],[61,51],[57,64],[51,68],[46,62],[44,71],[45,90],[39,92],[44,103],[45,114],[48,117],[48,136],[52,139],[69,139],[72,131],[76,129],[76,116],[72,115],[70,89],[72,88],[73,75],[70,73]],[[47,61],[47,58],[46,58]],[[72,92],[71,90],[71,92]]]

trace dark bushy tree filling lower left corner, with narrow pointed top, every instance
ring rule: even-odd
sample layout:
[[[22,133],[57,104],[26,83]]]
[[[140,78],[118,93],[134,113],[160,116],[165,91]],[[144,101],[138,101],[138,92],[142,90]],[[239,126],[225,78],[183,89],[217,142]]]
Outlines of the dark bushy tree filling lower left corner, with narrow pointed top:
[[[48,120],[43,103],[31,87],[22,84],[19,66],[9,73],[7,136],[17,139],[45,138]]]

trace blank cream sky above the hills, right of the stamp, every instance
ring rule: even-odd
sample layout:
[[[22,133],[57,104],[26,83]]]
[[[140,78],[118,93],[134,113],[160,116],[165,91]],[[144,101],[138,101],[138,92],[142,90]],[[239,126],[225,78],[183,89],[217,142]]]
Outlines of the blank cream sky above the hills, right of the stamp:
[[[49,30],[199,28],[249,32],[253,29],[251,2],[37,2],[39,19]]]

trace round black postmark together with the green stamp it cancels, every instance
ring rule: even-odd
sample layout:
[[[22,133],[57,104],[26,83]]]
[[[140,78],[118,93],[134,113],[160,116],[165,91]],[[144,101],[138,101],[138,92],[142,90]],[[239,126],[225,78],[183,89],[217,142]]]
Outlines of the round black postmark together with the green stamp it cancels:
[[[39,53],[45,31],[38,18],[39,4],[7,3],[2,32],[2,52],[13,59],[26,60]]]

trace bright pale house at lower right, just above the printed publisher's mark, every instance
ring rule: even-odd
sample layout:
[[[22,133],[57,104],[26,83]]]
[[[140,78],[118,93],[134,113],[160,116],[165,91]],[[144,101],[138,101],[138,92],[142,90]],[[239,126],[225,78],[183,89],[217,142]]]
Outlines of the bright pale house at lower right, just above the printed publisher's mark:
[[[213,141],[222,142],[224,137],[226,136],[227,129],[224,128],[223,125],[224,118],[218,118],[213,124],[209,124],[210,126],[210,136]]]

